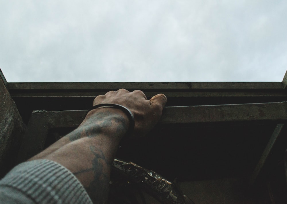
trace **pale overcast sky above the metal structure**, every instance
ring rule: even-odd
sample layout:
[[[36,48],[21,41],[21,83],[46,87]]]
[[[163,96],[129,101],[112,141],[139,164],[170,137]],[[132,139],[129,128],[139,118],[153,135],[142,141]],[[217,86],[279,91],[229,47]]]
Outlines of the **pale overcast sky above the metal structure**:
[[[0,1],[8,82],[282,81],[286,0]]]

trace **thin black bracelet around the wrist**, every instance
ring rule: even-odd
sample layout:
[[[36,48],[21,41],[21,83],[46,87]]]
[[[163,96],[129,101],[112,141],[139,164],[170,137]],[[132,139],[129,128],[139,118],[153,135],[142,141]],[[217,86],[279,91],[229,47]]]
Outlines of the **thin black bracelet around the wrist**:
[[[92,108],[88,110],[88,112],[90,112],[91,110],[100,108],[100,107],[118,108],[118,109],[121,109],[123,112],[125,112],[125,114],[129,118],[129,129],[127,130],[126,136],[131,136],[131,134],[133,133],[133,130],[135,129],[135,118],[133,117],[132,112],[128,108],[126,108],[125,106],[121,106],[119,104],[103,103],[103,104],[98,104],[98,105],[93,106]]]

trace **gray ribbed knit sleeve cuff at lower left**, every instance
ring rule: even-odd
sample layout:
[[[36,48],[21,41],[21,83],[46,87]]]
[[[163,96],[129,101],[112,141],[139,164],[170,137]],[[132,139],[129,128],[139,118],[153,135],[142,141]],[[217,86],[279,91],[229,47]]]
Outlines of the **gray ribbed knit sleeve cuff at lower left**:
[[[1,203],[92,204],[79,180],[65,167],[49,160],[17,165],[0,181]]]

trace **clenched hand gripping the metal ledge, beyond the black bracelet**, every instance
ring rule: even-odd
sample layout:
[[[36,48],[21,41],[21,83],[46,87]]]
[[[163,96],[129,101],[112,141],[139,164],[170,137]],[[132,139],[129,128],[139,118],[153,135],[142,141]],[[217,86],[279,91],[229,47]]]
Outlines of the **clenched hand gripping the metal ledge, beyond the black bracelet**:
[[[110,91],[105,95],[97,96],[93,105],[113,103],[128,108],[135,118],[135,136],[143,136],[151,130],[162,114],[164,105],[166,104],[166,96],[157,94],[150,100],[147,100],[144,92],[135,90],[129,92],[125,89],[118,91]]]

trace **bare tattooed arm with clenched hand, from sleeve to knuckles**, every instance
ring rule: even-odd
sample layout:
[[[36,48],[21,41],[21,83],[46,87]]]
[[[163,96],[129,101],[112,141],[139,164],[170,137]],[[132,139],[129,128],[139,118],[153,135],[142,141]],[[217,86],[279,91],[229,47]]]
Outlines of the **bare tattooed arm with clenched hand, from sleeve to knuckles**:
[[[166,97],[158,94],[147,100],[141,91],[121,89],[96,97],[93,105],[102,103],[129,108],[135,118],[133,135],[142,136],[158,122]],[[92,110],[76,130],[30,160],[48,159],[63,165],[82,183],[94,203],[106,203],[110,167],[128,126],[129,119],[122,110]]]

